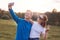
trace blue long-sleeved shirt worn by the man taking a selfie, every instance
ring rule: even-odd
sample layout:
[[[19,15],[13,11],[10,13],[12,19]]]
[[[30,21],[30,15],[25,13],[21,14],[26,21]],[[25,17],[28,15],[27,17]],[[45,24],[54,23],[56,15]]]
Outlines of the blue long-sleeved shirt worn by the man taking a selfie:
[[[16,16],[12,9],[9,12],[17,23],[16,40],[29,40],[32,23]]]

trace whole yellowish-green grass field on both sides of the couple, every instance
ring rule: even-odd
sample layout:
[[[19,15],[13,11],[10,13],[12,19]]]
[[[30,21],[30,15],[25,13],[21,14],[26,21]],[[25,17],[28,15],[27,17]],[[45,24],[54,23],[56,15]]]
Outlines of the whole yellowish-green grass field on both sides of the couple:
[[[16,24],[12,20],[0,19],[0,40],[14,40]],[[60,27],[51,26],[47,40],[60,40]]]

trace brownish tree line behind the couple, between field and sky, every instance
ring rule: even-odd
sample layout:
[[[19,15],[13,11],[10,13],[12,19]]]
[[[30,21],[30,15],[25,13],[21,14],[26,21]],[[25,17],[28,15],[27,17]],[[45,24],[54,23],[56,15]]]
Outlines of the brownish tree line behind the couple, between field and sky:
[[[42,14],[42,13],[39,13],[38,15],[40,15],[40,14]],[[47,15],[47,17],[48,17],[47,24],[58,25],[58,26],[60,25],[60,12],[57,12],[56,9],[53,9],[52,12],[45,12],[43,14]],[[20,18],[24,18],[25,13],[18,12],[18,13],[16,13],[16,15]],[[8,11],[0,9],[0,19],[10,20],[10,19],[12,19],[12,17]],[[33,20],[37,19],[37,13],[36,12],[33,13],[32,19]]]

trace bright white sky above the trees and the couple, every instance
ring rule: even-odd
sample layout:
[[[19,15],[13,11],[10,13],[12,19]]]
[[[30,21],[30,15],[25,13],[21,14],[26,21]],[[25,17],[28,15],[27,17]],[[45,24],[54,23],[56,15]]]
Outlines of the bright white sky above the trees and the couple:
[[[0,8],[8,11],[8,3],[14,2],[13,10],[15,12],[47,12],[56,8],[60,11],[60,0],[0,0]]]

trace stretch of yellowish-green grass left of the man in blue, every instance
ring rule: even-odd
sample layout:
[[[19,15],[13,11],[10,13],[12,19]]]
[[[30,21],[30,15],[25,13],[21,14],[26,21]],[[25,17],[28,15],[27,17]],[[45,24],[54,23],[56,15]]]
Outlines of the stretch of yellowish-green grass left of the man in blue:
[[[0,20],[0,40],[14,40],[16,25],[12,20]]]

